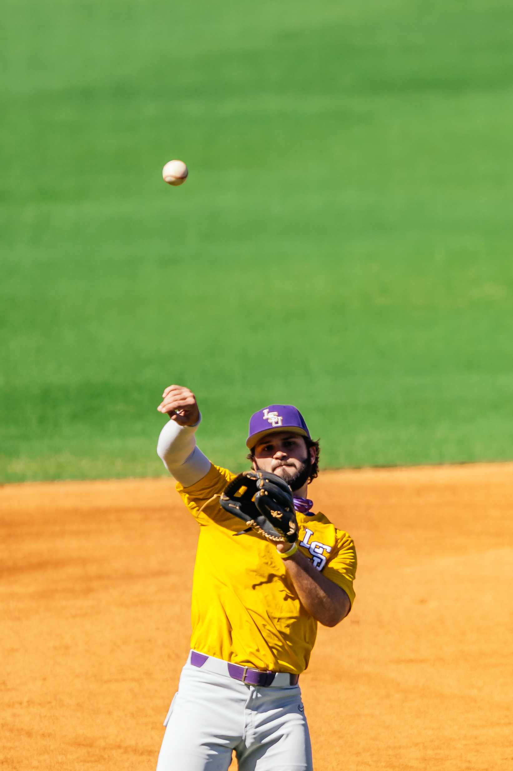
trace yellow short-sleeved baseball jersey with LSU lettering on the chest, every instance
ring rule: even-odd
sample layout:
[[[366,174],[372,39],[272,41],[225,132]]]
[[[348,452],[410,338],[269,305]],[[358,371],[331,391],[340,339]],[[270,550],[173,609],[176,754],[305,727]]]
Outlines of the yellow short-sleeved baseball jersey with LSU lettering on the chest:
[[[199,523],[193,578],[191,648],[225,661],[273,672],[307,668],[317,621],[303,608],[276,547],[220,507],[235,474],[210,466],[190,487],[176,484]],[[210,500],[212,499],[212,500]],[[297,513],[300,550],[354,601],[353,540],[324,514]]]

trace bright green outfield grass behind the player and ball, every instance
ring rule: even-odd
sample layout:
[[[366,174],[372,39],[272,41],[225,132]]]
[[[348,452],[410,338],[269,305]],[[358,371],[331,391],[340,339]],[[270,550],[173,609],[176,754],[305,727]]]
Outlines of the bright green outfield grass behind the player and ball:
[[[324,466],[511,459],[512,30],[505,0],[8,0],[1,479],[163,472],[172,382],[233,470],[269,402]]]

